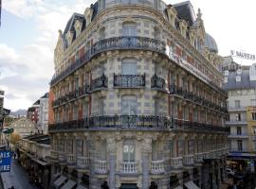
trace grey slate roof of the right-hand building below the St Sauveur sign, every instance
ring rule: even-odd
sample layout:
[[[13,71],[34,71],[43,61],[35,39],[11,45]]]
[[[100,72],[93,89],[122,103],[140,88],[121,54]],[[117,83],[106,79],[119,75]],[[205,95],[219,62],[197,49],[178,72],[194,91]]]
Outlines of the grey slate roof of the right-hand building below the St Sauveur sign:
[[[236,81],[236,77],[241,76],[241,81]],[[241,75],[237,75],[237,72],[229,72],[228,82],[224,83],[225,90],[232,89],[255,89],[256,80],[249,79],[249,71],[243,70]]]

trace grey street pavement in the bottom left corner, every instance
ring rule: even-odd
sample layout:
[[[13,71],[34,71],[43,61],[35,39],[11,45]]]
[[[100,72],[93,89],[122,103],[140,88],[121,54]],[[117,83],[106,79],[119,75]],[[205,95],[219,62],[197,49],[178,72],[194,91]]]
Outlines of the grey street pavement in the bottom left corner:
[[[38,189],[35,185],[29,183],[27,173],[24,168],[17,163],[17,160],[11,160],[9,173],[1,173],[4,188],[9,189],[14,186],[15,189]]]

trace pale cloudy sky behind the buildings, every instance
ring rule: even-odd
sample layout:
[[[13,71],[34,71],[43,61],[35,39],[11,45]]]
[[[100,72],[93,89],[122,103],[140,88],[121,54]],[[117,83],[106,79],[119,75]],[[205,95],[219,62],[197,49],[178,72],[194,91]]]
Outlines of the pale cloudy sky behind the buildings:
[[[4,107],[27,109],[49,90],[54,74],[53,51],[58,30],[73,12],[83,13],[96,0],[2,0],[0,27],[0,89]],[[175,4],[182,0],[164,0]],[[255,0],[191,0],[200,8],[206,31],[218,44],[219,54],[230,50],[256,54]],[[235,59],[238,63],[252,61]]]

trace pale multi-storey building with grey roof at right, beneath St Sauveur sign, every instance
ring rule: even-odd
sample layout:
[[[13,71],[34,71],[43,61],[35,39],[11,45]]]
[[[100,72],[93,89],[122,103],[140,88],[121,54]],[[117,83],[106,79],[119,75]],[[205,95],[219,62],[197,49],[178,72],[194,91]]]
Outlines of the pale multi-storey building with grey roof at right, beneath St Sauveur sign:
[[[231,62],[232,65],[238,65]],[[229,116],[226,125],[229,134],[229,161],[237,168],[252,166],[256,160],[254,146],[253,120],[256,106],[256,64],[249,69],[242,66],[228,66],[223,70],[224,88],[229,93]],[[228,69],[231,68],[231,69]],[[242,69],[241,69],[242,68]]]

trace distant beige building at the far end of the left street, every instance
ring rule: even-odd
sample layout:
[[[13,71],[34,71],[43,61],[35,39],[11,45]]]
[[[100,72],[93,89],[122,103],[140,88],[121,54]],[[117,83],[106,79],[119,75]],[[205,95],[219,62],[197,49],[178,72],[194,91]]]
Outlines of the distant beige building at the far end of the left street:
[[[19,134],[22,138],[36,132],[35,123],[26,117],[22,117],[12,122],[9,128],[14,129],[14,133]]]

